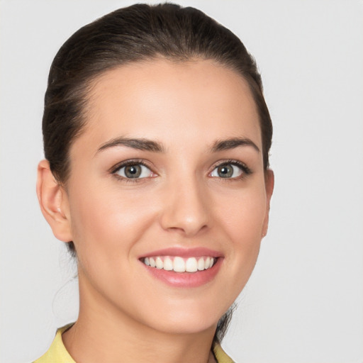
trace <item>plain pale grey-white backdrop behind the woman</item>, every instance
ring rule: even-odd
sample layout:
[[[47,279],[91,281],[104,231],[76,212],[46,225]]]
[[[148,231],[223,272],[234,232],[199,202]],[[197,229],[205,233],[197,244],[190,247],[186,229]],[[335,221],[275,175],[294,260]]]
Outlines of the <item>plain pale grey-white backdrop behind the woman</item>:
[[[363,2],[179,1],[256,57],[274,123],[269,234],[225,350],[237,362],[363,362]],[[132,1],[0,1],[1,355],[30,362],[77,318],[72,259],[35,196],[60,45]]]

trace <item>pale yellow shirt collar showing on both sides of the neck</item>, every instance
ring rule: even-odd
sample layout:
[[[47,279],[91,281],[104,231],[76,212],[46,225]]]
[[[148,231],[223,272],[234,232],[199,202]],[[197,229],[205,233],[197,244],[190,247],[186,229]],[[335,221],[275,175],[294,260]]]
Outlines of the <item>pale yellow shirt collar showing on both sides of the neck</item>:
[[[57,330],[57,334],[55,335],[48,352],[33,363],[76,363],[65,349],[65,345],[62,341],[62,333],[67,330],[67,328],[69,328],[69,325]],[[233,363],[233,360],[225,354],[220,345],[213,347],[213,352],[218,363]]]

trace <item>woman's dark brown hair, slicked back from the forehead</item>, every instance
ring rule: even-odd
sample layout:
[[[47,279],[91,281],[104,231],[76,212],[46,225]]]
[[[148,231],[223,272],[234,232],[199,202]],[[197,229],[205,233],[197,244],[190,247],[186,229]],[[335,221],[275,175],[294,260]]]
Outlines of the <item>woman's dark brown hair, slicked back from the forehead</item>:
[[[86,123],[84,109],[91,81],[113,67],[160,57],[179,62],[215,60],[247,81],[259,113],[267,169],[272,122],[255,60],[240,39],[197,9],[136,4],[77,30],[52,62],[45,93],[43,142],[45,158],[60,184],[69,177],[69,148]],[[67,245],[75,255],[73,242]],[[220,320],[215,342],[223,337],[228,320],[227,315]]]

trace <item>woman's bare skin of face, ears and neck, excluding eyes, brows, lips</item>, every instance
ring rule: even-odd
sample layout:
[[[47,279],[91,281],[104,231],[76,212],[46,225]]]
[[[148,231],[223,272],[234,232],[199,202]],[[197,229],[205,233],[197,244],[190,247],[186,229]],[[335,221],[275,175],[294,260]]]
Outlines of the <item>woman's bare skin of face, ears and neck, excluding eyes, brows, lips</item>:
[[[213,150],[230,138],[262,150],[247,83],[208,60],[133,63],[96,79],[86,120],[65,185],[47,161],[38,167],[43,214],[77,250],[80,310],[63,335],[67,350],[77,362],[213,362],[216,324],[255,266],[274,185],[255,147]],[[147,138],[164,150],[98,151],[120,137]],[[147,177],[111,172],[130,159],[147,163]],[[229,160],[251,174],[236,167],[233,177],[219,177],[218,163]],[[164,284],[139,258],[167,247],[216,250],[220,270],[203,286]]]

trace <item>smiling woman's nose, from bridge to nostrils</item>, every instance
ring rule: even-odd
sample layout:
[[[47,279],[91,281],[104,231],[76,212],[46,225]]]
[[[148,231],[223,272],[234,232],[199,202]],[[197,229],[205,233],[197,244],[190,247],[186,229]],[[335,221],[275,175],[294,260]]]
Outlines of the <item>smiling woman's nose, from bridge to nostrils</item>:
[[[186,237],[198,235],[211,223],[205,187],[195,179],[172,184],[164,195],[162,228]]]

